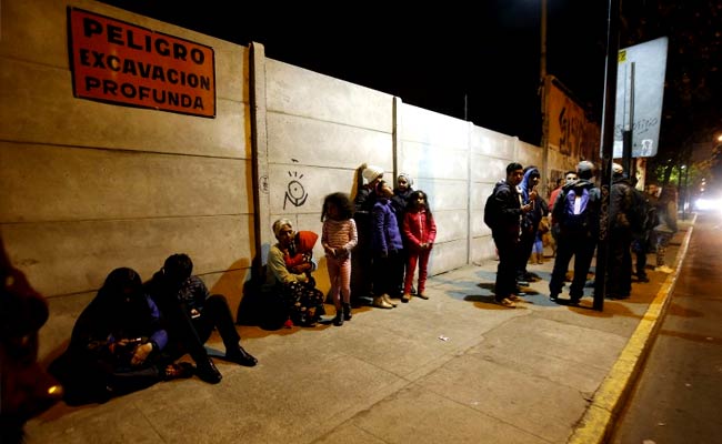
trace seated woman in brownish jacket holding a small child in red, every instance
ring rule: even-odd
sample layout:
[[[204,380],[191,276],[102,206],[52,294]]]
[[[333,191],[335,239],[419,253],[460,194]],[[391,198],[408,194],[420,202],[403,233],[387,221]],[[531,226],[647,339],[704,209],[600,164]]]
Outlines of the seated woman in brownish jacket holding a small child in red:
[[[265,296],[279,296],[282,300],[283,304],[279,310],[287,320],[285,326],[313,326],[324,311],[323,293],[315,287],[315,280],[311,275],[315,270],[315,263],[311,261],[302,269],[289,269],[285,258],[293,258],[297,254],[294,251],[297,233],[293,224],[288,219],[279,219],[273,222],[272,229],[278,243],[269,250],[263,284]],[[318,239],[318,235],[314,234],[314,239]]]

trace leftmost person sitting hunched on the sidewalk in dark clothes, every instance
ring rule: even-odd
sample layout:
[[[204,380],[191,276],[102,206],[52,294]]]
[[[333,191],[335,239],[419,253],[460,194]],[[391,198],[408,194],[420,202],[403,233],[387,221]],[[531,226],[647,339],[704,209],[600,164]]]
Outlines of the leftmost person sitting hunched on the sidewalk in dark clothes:
[[[168,333],[139,274],[116,269],[82,311],[67,351],[50,365],[70,405],[103,403],[159,381],[190,377],[189,363],[163,353]]]

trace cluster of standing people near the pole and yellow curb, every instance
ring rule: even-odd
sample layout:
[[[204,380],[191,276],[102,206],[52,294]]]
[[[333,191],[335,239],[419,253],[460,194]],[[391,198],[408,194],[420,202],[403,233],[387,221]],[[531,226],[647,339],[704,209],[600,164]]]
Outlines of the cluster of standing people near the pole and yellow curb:
[[[646,254],[652,251],[656,251],[655,271],[672,271],[664,264],[664,253],[671,236],[678,231],[676,193],[673,188],[665,188],[660,194],[656,184],[650,184],[648,191],[642,192],[624,175],[620,164],[614,163],[612,171],[605,297],[626,299],[631,294],[632,251],[638,253],[638,282],[649,282]],[[602,192],[594,183],[594,164],[581,161],[576,171],[565,173],[564,183],[550,198],[551,210],[537,194],[538,181],[539,171],[534,167],[524,169],[512,162],[507,167],[505,180],[495,184],[490,198],[500,209],[499,222],[491,226],[499,255],[494,299],[508,307],[514,307],[521,300],[521,286],[529,276],[524,266],[533,251],[532,233],[537,233],[540,219],[549,211],[555,241],[550,300],[559,301],[573,256],[574,272],[566,303],[576,305],[588,286],[588,274],[600,238]]]

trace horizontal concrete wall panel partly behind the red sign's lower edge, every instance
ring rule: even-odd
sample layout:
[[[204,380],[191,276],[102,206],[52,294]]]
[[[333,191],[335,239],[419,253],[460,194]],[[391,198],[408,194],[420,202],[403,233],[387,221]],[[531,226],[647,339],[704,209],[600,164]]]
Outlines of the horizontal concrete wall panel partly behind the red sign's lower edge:
[[[77,99],[67,69],[0,58],[0,138],[19,142],[250,158],[248,105],[219,100],[215,119]]]

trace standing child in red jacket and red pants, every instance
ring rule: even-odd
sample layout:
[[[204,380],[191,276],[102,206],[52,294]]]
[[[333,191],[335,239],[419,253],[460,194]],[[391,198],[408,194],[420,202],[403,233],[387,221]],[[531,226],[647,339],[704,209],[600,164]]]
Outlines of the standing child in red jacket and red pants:
[[[411,284],[417,271],[417,263],[419,264],[417,296],[424,300],[429,299],[424,290],[429,256],[431,255],[433,241],[437,239],[437,223],[433,220],[433,214],[431,214],[427,193],[421,190],[412,192],[409,196],[407,213],[403,218],[403,233],[409,253],[401,301],[409,302],[411,300]]]

